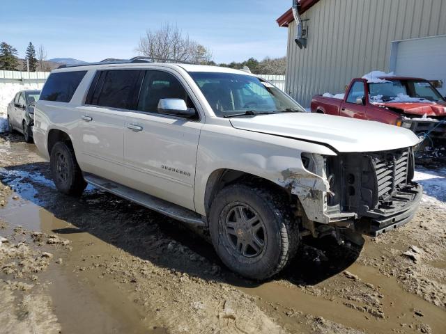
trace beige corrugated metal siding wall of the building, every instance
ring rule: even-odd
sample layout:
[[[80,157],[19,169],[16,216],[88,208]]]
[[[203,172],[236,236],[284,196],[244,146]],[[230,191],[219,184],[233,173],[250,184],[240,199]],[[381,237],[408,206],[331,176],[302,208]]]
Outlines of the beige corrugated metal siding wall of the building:
[[[353,77],[389,70],[392,40],[446,34],[445,0],[321,0],[310,19],[307,48],[288,34],[286,92],[303,106],[314,94],[341,93]],[[442,15],[443,13],[443,15]]]

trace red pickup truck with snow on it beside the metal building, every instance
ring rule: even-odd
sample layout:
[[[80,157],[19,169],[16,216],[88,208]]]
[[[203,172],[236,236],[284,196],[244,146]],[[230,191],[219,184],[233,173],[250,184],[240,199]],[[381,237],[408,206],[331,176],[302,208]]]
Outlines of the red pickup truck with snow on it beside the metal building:
[[[446,157],[446,100],[425,79],[356,78],[345,95],[314,95],[311,111],[411,129],[424,139],[417,158]]]

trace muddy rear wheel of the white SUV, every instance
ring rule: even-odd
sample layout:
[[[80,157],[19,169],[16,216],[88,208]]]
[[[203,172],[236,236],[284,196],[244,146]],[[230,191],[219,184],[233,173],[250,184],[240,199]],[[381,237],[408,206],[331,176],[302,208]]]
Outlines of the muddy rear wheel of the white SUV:
[[[51,150],[51,175],[57,190],[70,196],[80,196],[87,183],[77,164],[71,145],[59,141]]]

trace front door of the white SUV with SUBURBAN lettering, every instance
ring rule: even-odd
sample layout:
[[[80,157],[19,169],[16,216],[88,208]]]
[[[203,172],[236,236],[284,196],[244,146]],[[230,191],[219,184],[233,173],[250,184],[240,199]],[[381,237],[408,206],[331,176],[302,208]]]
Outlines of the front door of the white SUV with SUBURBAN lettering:
[[[194,178],[202,123],[157,112],[160,99],[178,98],[197,110],[197,100],[175,72],[147,70],[135,111],[126,117],[124,159],[127,185],[194,209]],[[193,97],[194,98],[194,97]]]

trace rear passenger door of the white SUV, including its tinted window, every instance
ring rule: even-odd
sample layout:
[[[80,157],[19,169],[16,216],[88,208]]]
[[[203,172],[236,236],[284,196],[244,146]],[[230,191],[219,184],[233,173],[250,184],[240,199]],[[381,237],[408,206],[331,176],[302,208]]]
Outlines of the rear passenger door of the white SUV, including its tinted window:
[[[101,70],[82,108],[82,169],[123,183],[125,113],[137,94],[140,70]]]

